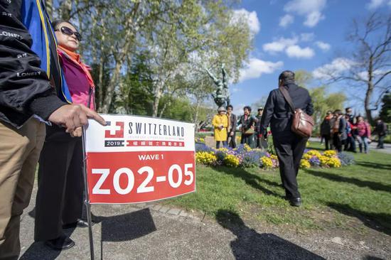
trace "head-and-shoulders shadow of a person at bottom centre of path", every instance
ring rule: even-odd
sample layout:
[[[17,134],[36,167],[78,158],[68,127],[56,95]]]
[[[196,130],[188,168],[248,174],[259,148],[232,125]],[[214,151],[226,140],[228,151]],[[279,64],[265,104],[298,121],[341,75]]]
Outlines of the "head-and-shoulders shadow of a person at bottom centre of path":
[[[235,212],[219,210],[216,220],[237,237],[231,242],[231,249],[237,260],[324,259],[274,234],[257,233],[254,229],[247,227]]]

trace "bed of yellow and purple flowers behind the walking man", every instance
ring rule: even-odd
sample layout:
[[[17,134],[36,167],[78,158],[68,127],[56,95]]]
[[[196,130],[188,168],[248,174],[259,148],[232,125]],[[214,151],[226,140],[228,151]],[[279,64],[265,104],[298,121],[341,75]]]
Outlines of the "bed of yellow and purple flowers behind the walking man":
[[[252,168],[260,167],[273,169],[279,167],[276,155],[270,154],[262,149],[252,149],[247,144],[240,144],[237,148],[210,148],[204,143],[195,143],[195,160],[197,163],[208,166],[228,166]],[[339,168],[354,163],[354,158],[348,153],[336,153],[336,151],[316,150],[304,151],[300,161],[300,168],[323,167]]]

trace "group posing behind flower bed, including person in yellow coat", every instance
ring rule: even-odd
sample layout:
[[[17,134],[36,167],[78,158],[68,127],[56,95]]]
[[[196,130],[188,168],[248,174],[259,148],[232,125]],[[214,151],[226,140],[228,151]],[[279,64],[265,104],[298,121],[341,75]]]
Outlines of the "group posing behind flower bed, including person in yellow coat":
[[[225,107],[219,107],[218,114],[213,117],[212,125],[216,148],[220,148],[221,143],[225,147],[235,148],[238,126],[240,143],[247,143],[251,148],[267,148],[267,141],[264,141],[262,133],[259,131],[263,107],[259,107],[257,115],[253,116],[251,107],[245,106],[239,119],[232,113],[232,109],[232,105],[228,105],[226,109]]]

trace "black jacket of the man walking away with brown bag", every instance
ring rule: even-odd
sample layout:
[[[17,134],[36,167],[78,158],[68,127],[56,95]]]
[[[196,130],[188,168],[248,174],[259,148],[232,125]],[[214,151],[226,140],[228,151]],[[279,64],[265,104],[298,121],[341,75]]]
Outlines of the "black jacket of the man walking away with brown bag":
[[[310,116],[314,114],[314,107],[308,90],[296,84],[287,84],[284,87],[288,90],[295,109],[300,108]],[[291,121],[292,112],[289,104],[285,101],[284,96],[278,89],[272,90],[264,106],[260,123],[260,133],[266,136],[267,126],[270,124],[273,136],[294,134],[291,131]]]

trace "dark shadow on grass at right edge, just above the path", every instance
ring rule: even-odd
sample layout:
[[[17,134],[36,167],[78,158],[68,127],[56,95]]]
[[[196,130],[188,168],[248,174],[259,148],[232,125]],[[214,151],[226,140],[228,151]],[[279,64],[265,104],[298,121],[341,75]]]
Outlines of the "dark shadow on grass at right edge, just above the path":
[[[355,210],[350,205],[334,202],[329,202],[328,207],[331,207],[344,215],[357,217],[361,222],[363,222],[363,224],[365,224],[365,226],[391,235],[391,214],[364,212],[361,210]]]

